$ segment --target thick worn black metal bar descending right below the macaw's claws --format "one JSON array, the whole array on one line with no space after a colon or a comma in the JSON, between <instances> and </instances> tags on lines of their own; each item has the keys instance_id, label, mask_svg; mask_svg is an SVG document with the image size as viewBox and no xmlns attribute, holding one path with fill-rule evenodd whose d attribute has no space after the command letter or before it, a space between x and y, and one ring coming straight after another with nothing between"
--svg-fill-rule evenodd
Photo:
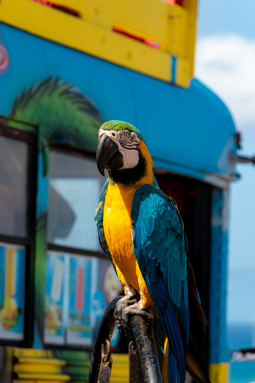
<instances>
[{"instance_id":1,"label":"thick worn black metal bar descending right below the macaw's claws","mask_svg":"<svg viewBox=\"0 0 255 383\"><path fill-rule=\"evenodd\" d=\"M138 347L145 382L162 383L159 362L148 324L138 315L131 317L129 324Z\"/></svg>"}]
</instances>

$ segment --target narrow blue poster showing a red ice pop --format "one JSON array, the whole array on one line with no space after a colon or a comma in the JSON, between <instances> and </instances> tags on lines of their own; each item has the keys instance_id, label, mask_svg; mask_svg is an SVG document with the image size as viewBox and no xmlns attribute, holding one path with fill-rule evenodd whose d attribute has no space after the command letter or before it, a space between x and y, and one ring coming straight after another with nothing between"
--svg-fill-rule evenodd
<instances>
[{"instance_id":1,"label":"narrow blue poster showing a red ice pop","mask_svg":"<svg viewBox=\"0 0 255 383\"><path fill-rule=\"evenodd\" d=\"M67 344L92 345L91 270L91 258L70 256Z\"/></svg>"}]
</instances>

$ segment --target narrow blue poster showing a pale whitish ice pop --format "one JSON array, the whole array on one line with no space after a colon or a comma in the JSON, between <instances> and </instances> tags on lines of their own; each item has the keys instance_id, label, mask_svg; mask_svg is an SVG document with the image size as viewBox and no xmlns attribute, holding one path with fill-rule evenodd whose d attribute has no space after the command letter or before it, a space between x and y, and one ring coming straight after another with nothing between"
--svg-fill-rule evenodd
<instances>
[{"instance_id":1,"label":"narrow blue poster showing a pale whitish ice pop","mask_svg":"<svg viewBox=\"0 0 255 383\"><path fill-rule=\"evenodd\" d=\"M65 257L57 252L47 252L45 283L44 342L65 343L63 285Z\"/></svg>"}]
</instances>

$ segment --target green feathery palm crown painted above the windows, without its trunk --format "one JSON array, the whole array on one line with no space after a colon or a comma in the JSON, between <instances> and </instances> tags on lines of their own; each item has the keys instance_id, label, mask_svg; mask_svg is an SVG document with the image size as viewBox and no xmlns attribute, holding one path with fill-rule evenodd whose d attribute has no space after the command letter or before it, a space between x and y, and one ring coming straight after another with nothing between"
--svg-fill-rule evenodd
<instances>
[{"instance_id":1,"label":"green feathery palm crown painted above the windows, without its trunk","mask_svg":"<svg viewBox=\"0 0 255 383\"><path fill-rule=\"evenodd\" d=\"M40 127L42 139L96 151L102 117L89 98L68 82L49 77L24 89L10 117Z\"/></svg>"}]
</instances>

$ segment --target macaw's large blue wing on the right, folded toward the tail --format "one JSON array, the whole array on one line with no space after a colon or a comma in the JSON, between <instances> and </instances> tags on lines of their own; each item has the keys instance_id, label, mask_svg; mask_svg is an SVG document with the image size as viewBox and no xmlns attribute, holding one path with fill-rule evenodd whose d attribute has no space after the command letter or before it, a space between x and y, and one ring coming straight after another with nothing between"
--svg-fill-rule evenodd
<instances>
[{"instance_id":1,"label":"macaw's large blue wing on the right, folded toward the tail","mask_svg":"<svg viewBox=\"0 0 255 383\"><path fill-rule=\"evenodd\" d=\"M174 200L153 185L136 190L131 218L135 257L172 346L169 368L178 368L184 382L189 316L188 247L182 220Z\"/></svg>"}]
</instances>

